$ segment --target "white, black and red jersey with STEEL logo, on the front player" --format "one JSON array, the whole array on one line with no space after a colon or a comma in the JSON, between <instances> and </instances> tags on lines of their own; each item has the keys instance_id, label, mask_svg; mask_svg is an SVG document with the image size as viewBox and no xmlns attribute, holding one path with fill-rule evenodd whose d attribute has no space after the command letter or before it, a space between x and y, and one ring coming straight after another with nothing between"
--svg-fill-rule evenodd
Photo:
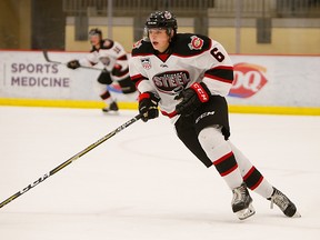
<instances>
[{"instance_id":1,"label":"white, black and red jersey with STEEL logo, on the front player","mask_svg":"<svg viewBox=\"0 0 320 240\"><path fill-rule=\"evenodd\" d=\"M194 82L204 82L212 94L226 97L233 81L233 66L224 48L212 39L178 33L168 53L157 53L150 42L140 40L129 60L131 79L139 92L160 97L162 114L177 116L177 93Z\"/></svg>"}]
</instances>

